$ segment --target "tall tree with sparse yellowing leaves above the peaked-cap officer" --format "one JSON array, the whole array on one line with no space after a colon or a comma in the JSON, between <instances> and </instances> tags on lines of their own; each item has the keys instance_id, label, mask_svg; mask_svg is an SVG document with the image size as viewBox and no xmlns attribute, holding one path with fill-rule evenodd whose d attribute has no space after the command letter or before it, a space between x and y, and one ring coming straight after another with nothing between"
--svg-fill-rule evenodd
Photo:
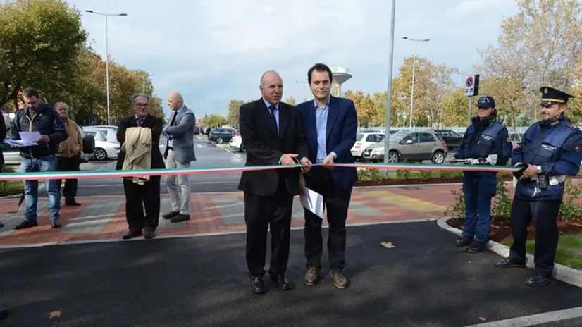
<instances>
[{"instance_id":1,"label":"tall tree with sparse yellowing leaves above the peaked-cap officer","mask_svg":"<svg viewBox=\"0 0 582 327\"><path fill-rule=\"evenodd\" d=\"M575 0L519 0L501 25L497 47L481 51L479 70L500 78L512 128L523 109L537 110L543 85L566 92L582 63L582 4ZM496 99L497 102L497 99ZM534 109L535 108L535 109Z\"/></svg>"}]
</instances>

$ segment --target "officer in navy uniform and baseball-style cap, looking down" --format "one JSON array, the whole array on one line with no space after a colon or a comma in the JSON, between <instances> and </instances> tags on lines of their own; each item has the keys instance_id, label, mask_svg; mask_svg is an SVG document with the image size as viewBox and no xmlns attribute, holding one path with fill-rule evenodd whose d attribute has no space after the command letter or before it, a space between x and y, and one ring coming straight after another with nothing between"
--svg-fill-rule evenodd
<instances>
[{"instance_id":1,"label":"officer in navy uniform and baseball-style cap, looking down","mask_svg":"<svg viewBox=\"0 0 582 327\"><path fill-rule=\"evenodd\" d=\"M512 155L512 143L507 128L495 121L497 109L493 97L481 97L478 101L477 117L467 128L463 143L453 163L464 159L469 165L505 166ZM465 171L463 192L465 196L465 222L462 237L456 241L469 253L486 249L491 229L491 199L497 190L497 172Z\"/></svg>"}]
</instances>

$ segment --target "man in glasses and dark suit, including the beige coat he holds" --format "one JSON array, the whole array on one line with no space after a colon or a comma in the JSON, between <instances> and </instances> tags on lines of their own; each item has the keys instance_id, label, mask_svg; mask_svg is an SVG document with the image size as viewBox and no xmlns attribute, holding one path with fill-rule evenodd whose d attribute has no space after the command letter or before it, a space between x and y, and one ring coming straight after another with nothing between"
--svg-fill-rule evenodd
<instances>
[{"instance_id":1,"label":"man in glasses and dark suit, including the beige coat he holds","mask_svg":"<svg viewBox=\"0 0 582 327\"><path fill-rule=\"evenodd\" d=\"M116 169L166 168L159 148L163 121L149 114L149 97L146 94L134 94L131 97L131 103L134 114L120 121L117 131L117 139L123 145L119 152ZM149 131L142 132L140 128L147 128ZM151 138L141 137L141 135L150 135ZM142 140L149 140L146 147L149 150L144 149L143 151L146 162L143 166L130 168L128 161L133 161L132 159L135 159L132 158L134 153L141 150L136 150L128 144L139 148L140 144L143 143ZM160 176L149 176L145 180L123 178L123 190L125 191L125 216L129 226L129 232L123 235L123 239L128 240L143 235L142 230L145 232L144 238L154 238L160 215Z\"/></svg>"}]
</instances>

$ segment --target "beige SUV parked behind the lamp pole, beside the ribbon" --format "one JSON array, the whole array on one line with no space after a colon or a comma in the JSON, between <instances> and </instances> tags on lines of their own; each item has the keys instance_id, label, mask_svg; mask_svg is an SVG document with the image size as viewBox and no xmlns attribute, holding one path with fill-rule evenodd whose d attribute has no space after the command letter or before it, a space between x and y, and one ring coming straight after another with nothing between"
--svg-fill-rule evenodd
<instances>
[{"instance_id":1,"label":"beige SUV parked behind the lamp pole, beside the ribbon","mask_svg":"<svg viewBox=\"0 0 582 327\"><path fill-rule=\"evenodd\" d=\"M447 143L432 130L401 130L390 135L388 163L399 161L431 160L441 164L448 154ZM364 159L372 162L384 160L384 143L372 144L364 150Z\"/></svg>"}]
</instances>

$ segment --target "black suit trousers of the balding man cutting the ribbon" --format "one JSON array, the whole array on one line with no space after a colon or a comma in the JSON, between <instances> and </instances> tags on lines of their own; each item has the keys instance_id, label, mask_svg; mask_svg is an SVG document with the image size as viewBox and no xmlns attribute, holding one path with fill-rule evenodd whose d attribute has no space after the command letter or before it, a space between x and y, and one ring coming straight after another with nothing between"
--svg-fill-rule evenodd
<instances>
[{"instance_id":1,"label":"black suit trousers of the balding man cutting the ribbon","mask_svg":"<svg viewBox=\"0 0 582 327\"><path fill-rule=\"evenodd\" d=\"M277 192L261 197L244 192L244 222L247 224L247 267L251 276L265 274L267 230L271 228L271 276L283 275L289 261L289 237L293 196L283 178Z\"/></svg>"}]
</instances>

